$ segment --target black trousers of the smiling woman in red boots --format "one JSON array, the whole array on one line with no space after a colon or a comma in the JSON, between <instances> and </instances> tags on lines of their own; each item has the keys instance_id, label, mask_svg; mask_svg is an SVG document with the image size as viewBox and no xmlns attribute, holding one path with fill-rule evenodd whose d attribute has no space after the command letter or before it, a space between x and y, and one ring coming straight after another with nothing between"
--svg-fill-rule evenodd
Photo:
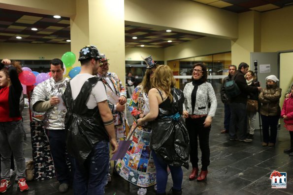
<instances>
[{"instance_id":1,"label":"black trousers of the smiling woman in red boots","mask_svg":"<svg viewBox=\"0 0 293 195\"><path fill-rule=\"evenodd\" d=\"M209 135L211 126L203 127L203 123L206 116L202 118L186 118L186 128L188 130L190 139L190 162L192 167L198 167L198 149L197 149L197 137L199 140L199 147L201 150L201 169L207 170L210 165L210 146Z\"/></svg>"}]
</instances>

